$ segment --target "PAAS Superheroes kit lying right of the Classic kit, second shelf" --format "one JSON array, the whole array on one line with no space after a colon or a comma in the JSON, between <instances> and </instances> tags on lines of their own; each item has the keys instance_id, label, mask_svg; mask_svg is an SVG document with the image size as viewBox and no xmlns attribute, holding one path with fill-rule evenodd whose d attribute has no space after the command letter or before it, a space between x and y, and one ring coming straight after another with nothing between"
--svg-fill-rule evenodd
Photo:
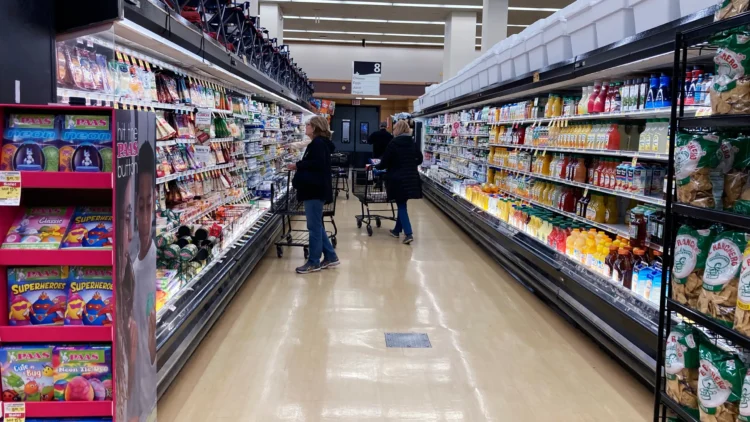
<instances>
[{"instance_id":1,"label":"PAAS Superheroes kit lying right of the Classic kit, second shelf","mask_svg":"<svg viewBox=\"0 0 750 422\"><path fill-rule=\"evenodd\" d=\"M108 207L78 207L60 248L112 249L112 209Z\"/></svg>"}]
</instances>

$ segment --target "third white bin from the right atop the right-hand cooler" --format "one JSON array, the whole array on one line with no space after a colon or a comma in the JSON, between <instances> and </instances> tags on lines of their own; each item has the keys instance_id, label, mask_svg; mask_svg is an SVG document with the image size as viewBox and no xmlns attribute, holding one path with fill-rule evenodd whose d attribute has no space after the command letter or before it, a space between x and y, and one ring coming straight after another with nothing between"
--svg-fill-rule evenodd
<instances>
[{"instance_id":1,"label":"third white bin from the right atop the right-hand cooler","mask_svg":"<svg viewBox=\"0 0 750 422\"><path fill-rule=\"evenodd\" d=\"M591 6L591 20L596 22L596 43L599 47L635 35L635 17L628 1L601 0Z\"/></svg>"}]
</instances>

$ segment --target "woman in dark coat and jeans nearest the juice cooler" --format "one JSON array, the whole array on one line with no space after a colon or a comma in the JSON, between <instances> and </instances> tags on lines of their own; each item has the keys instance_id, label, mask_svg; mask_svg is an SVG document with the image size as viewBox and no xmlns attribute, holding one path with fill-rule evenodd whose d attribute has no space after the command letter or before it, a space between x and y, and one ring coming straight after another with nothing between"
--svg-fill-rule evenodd
<instances>
[{"instance_id":1,"label":"woman in dark coat and jeans nearest the juice cooler","mask_svg":"<svg viewBox=\"0 0 750 422\"><path fill-rule=\"evenodd\" d=\"M396 227L391 230L391 236L399 237L404 231L403 243L408 245L414 241L406 210L406 201L422 198L422 180L419 178L417 167L422 164L422 153L414 143L409 123L401 120L393 127L393 140L383 154L378 170L387 170L385 188L388 200L398 206Z\"/></svg>"}]
</instances>

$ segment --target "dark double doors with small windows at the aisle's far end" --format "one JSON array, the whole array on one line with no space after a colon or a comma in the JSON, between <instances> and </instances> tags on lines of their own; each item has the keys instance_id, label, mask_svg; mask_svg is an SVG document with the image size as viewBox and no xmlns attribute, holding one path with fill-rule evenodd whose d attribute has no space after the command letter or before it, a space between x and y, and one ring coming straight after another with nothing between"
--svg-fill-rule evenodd
<instances>
[{"instance_id":1,"label":"dark double doors with small windows at the aisle's far end","mask_svg":"<svg viewBox=\"0 0 750 422\"><path fill-rule=\"evenodd\" d=\"M372 157L372 145L367 143L367 138L380 129L379 116L380 107L336 105L331 119L331 140L336 151L349 154L355 167L364 167Z\"/></svg>"}]
</instances>

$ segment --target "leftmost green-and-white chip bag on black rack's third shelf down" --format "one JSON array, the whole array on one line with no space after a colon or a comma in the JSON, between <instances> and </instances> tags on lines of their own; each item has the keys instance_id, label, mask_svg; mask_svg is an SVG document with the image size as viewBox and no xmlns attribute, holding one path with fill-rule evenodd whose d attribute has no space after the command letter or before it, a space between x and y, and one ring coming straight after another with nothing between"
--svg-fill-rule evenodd
<instances>
[{"instance_id":1,"label":"leftmost green-and-white chip bag on black rack's third shelf down","mask_svg":"<svg viewBox=\"0 0 750 422\"><path fill-rule=\"evenodd\" d=\"M672 264L672 298L698 309L706 257L713 243L712 229L696 230L685 224L677 230Z\"/></svg>"}]
</instances>

